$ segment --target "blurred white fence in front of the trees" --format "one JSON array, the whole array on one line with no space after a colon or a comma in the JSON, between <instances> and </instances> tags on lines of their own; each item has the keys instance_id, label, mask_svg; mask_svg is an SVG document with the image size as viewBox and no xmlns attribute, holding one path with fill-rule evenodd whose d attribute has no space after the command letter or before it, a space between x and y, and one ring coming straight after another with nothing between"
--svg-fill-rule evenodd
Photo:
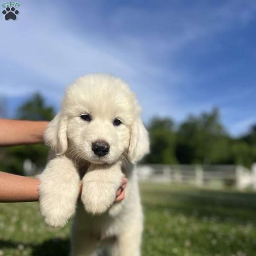
<instances>
[{"instance_id":1,"label":"blurred white fence in front of the trees","mask_svg":"<svg viewBox=\"0 0 256 256\"><path fill-rule=\"evenodd\" d=\"M140 180L190 183L196 186L236 186L256 190L256 164L252 170L234 165L138 165Z\"/></svg>"}]
</instances>

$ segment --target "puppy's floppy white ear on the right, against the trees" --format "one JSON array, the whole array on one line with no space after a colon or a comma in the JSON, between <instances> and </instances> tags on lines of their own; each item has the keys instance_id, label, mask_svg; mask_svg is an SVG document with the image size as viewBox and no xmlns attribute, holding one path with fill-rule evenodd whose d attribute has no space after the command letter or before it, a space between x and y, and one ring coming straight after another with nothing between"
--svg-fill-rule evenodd
<instances>
[{"instance_id":1,"label":"puppy's floppy white ear on the right, against the trees","mask_svg":"<svg viewBox=\"0 0 256 256\"><path fill-rule=\"evenodd\" d=\"M131 163L137 163L145 154L149 153L148 131L143 125L140 117L137 117L131 127L130 145L128 148L128 156Z\"/></svg>"}]
</instances>

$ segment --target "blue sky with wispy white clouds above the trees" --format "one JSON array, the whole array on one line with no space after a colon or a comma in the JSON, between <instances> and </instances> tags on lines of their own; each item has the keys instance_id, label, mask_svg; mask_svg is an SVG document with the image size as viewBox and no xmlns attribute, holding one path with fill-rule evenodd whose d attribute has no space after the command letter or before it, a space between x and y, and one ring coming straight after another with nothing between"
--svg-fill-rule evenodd
<instances>
[{"instance_id":1,"label":"blue sky with wispy white clouds above the trees","mask_svg":"<svg viewBox=\"0 0 256 256\"><path fill-rule=\"evenodd\" d=\"M58 110L70 82L103 72L130 84L145 122L215 106L235 136L256 122L255 1L19 3L17 20L0 19L10 116L36 91Z\"/></svg>"}]
</instances>

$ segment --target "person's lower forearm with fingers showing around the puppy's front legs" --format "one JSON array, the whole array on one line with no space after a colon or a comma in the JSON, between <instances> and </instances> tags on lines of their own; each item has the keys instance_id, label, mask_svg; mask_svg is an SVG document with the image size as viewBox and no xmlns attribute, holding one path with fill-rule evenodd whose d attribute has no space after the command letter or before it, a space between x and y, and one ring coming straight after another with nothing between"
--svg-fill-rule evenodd
<instances>
[{"instance_id":1,"label":"person's lower forearm with fingers showing around the puppy's front legs","mask_svg":"<svg viewBox=\"0 0 256 256\"><path fill-rule=\"evenodd\" d=\"M0 203L38 201L39 183L40 181L36 178L0 172ZM126 184L127 179L124 178L122 187L116 192L116 202L125 198ZM81 190L81 188L77 189Z\"/></svg>"}]
</instances>

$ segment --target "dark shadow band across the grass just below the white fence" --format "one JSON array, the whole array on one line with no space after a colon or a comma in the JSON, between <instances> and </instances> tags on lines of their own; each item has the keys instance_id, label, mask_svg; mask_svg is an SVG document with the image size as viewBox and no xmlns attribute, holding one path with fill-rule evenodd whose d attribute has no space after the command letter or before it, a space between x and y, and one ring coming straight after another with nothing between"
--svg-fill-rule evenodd
<instances>
[{"instance_id":1,"label":"dark shadow band across the grass just below the white fence","mask_svg":"<svg viewBox=\"0 0 256 256\"><path fill-rule=\"evenodd\" d=\"M256 222L256 194L204 189L153 190L142 187L145 209L169 210L196 218L214 217L238 224Z\"/></svg>"}]
</instances>

